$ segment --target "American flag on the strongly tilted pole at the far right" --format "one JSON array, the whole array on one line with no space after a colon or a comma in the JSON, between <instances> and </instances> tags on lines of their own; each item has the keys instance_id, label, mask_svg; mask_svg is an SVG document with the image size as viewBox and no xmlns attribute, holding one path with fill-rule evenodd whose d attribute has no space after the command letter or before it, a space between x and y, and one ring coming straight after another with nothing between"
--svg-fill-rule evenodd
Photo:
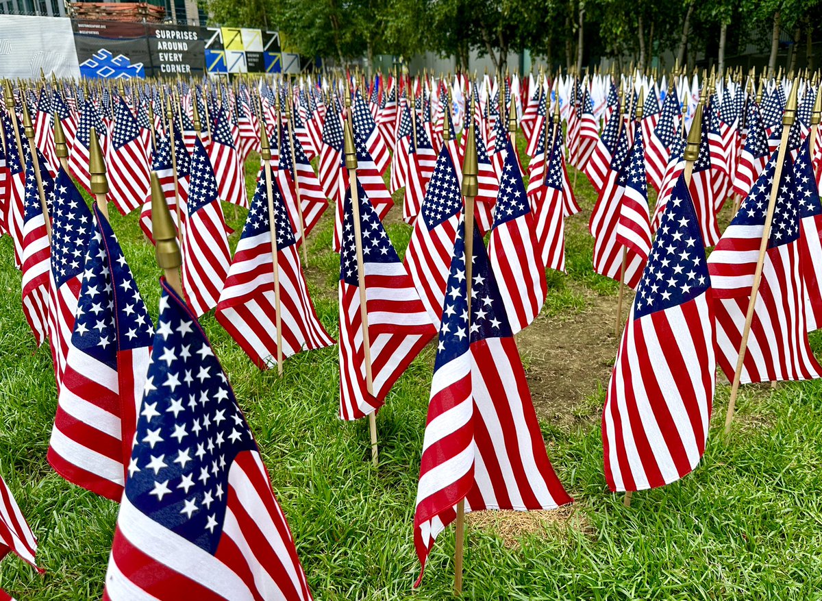
<instances>
[{"instance_id":1,"label":"American flag on the strongly tilted pole at the far right","mask_svg":"<svg viewBox=\"0 0 822 601\"><path fill-rule=\"evenodd\" d=\"M717 298L718 363L729 380L741 349L777 160L774 153L708 261ZM800 195L792 172L792 160L786 156L741 372L743 384L822 377L808 343L810 307L805 305L802 279L803 271L815 266L803 266L801 261Z\"/></svg>"}]
</instances>

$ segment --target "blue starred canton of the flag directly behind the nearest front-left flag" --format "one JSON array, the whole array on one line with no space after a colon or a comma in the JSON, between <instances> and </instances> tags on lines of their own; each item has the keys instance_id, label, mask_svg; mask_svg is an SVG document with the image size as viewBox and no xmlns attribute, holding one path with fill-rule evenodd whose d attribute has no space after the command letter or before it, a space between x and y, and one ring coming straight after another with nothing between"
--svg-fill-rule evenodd
<instances>
[{"instance_id":1,"label":"blue starred canton of the flag directly behind the nearest front-left flag","mask_svg":"<svg viewBox=\"0 0 822 601\"><path fill-rule=\"evenodd\" d=\"M96 206L95 218L72 344L117 369L118 350L149 346L154 329L120 244Z\"/></svg>"}]
</instances>

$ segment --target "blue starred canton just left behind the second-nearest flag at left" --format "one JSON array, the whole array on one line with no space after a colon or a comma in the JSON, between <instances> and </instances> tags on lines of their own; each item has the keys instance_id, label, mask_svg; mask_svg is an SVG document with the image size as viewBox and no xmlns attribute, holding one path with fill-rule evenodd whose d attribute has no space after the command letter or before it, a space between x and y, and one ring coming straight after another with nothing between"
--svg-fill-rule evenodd
<instances>
[{"instance_id":1,"label":"blue starred canton just left behind the second-nearest flag at left","mask_svg":"<svg viewBox=\"0 0 822 601\"><path fill-rule=\"evenodd\" d=\"M58 287L83 273L94 227L91 219L91 211L72 178L60 169L54 181L51 241L51 268Z\"/></svg>"}]
</instances>

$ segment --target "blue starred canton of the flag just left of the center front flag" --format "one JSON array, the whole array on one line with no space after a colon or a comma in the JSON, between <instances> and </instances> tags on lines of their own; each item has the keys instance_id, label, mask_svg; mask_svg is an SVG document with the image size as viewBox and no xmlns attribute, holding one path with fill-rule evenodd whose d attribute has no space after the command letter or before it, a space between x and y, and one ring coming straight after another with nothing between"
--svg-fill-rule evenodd
<instances>
[{"instance_id":1,"label":"blue starred canton of the flag just left of the center front flag","mask_svg":"<svg viewBox=\"0 0 822 601\"><path fill-rule=\"evenodd\" d=\"M362 184L357 182L360 208L360 232L363 236L363 261L367 263L399 263L399 256L391 245L386 229L368 200ZM354 236L354 212L351 188L345 192L343 207L343 242L339 253L339 279L346 284L359 285L357 270L357 241Z\"/></svg>"}]
</instances>

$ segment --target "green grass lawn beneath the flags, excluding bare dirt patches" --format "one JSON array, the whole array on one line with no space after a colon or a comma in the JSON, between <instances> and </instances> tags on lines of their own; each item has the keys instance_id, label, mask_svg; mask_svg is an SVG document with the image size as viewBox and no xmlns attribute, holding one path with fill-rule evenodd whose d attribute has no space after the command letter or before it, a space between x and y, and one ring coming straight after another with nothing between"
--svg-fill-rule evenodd
<instances>
[{"instance_id":1,"label":"green grass lawn beneath the flags, excluding bare dirt patches","mask_svg":"<svg viewBox=\"0 0 822 601\"><path fill-rule=\"evenodd\" d=\"M586 296L617 291L591 269L587 215L595 198L584 177L578 181L584 212L569 220L568 275L548 277L549 315L581 311ZM230 207L226 213L238 230L235 244L244 211L236 220ZM307 277L317 312L335 334L339 259L330 252L330 217L331 211L309 239ZM113 215L112 222L156 316L153 247L142 239L136 215ZM388 231L402 255L409 227L394 219ZM0 586L17 599L99 599L117 506L65 482L46 463L56 406L51 361L47 347L35 350L22 317L20 274L7 237L0 257L0 474L39 538L39 565L46 570L41 576L7 557ZM337 349L290 358L277 377L254 368L211 315L201 322L256 434L316 599L449 599L452 528L438 539L422 588L411 589L432 349L399 379L379 415L381 465L374 469L366 421L336 417ZM811 340L822 349L822 335ZM822 599L820 383L744 386L737 423L724 438L727 388L718 386L700 467L678 483L636 493L630 509L607 492L597 420L574 428L543 421L556 472L586 527L524 535L519 548L469 529L465 597ZM601 407L603 397L600 390L569 411L584 414L581 407Z\"/></svg>"}]
</instances>

